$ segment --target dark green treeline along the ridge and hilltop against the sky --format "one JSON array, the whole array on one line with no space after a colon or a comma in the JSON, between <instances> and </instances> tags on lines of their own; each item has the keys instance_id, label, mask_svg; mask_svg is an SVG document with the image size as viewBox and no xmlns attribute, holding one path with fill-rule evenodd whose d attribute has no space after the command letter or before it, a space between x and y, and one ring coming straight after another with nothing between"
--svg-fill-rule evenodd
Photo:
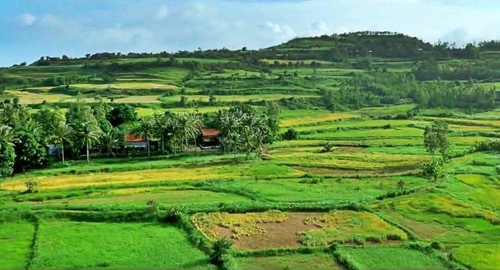
<instances>
[{"instance_id":1,"label":"dark green treeline along the ridge and hilltop against the sky","mask_svg":"<svg viewBox=\"0 0 500 270\"><path fill-rule=\"evenodd\" d=\"M290 40L285 44L259 51L247 51L246 47L238 50L210 49L195 51L178 51L168 53L94 53L85 58L68 58L42 56L34 65L60 65L67 62L85 62L88 60L115 60L137 58L206 58L242 60L249 64L258 60L303 60L317 59L331 62L342 62L348 58L373 56L379 58L465 58L476 59L480 51L499 51L500 42L480 42L457 47L449 42L430 44L401 33L363 31L354 33L322 35L320 37L303 37ZM286 49L286 50L282 50Z\"/></svg>"}]
</instances>

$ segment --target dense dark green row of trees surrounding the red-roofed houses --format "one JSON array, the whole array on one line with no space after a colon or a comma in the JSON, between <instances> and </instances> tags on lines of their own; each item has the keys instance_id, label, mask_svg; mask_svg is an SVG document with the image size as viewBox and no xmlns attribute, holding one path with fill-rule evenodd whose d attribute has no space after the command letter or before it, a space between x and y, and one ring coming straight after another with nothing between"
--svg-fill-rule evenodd
<instances>
[{"instance_id":1,"label":"dense dark green row of trees surrounding the red-roofed houses","mask_svg":"<svg viewBox=\"0 0 500 270\"><path fill-rule=\"evenodd\" d=\"M138 117L135 108L113 106L103 101L77 101L63 113L58 108L42 107L30 112L19 99L0 103L0 178L49 164L49 144L56 146L63 164L65 158L117 156L131 153L126 137L131 135L147 142L157 142L162 153L188 151L197 146L203 126L219 128L223 133L223 150L231 153L260 155L265 144L277 140L280 109L268 103L264 109L238 106L219 110L217 114L174 114ZM158 149L157 149L158 151Z\"/></svg>"}]
</instances>

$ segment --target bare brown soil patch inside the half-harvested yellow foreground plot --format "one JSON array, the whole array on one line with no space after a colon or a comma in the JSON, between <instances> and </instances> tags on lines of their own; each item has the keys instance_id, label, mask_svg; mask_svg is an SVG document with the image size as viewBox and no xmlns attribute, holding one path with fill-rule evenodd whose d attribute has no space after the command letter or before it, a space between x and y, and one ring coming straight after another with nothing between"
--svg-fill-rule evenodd
<instances>
[{"instance_id":1,"label":"bare brown soil patch inside the half-harvested yellow foreground plot","mask_svg":"<svg viewBox=\"0 0 500 270\"><path fill-rule=\"evenodd\" d=\"M263 235L242 236L233 239L235 248L263 249L303 246L299 242L301 235L299 232L318 228L315 225L307 225L304 219L316 217L324 213L290 213L288 219L282 223L259 223L258 226L264 228ZM220 237L231 238L233 232L228 228L217 227L217 234Z\"/></svg>"}]
</instances>

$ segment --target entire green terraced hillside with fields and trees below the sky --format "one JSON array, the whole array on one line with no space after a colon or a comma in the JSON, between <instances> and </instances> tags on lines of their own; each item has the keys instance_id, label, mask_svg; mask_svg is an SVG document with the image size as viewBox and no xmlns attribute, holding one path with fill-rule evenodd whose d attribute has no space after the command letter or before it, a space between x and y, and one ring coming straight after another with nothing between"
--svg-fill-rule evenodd
<instances>
[{"instance_id":1,"label":"entire green terraced hillside with fields and trees below the sky","mask_svg":"<svg viewBox=\"0 0 500 270\"><path fill-rule=\"evenodd\" d=\"M2 68L0 268L494 269L498 45L360 32Z\"/></svg>"}]
</instances>

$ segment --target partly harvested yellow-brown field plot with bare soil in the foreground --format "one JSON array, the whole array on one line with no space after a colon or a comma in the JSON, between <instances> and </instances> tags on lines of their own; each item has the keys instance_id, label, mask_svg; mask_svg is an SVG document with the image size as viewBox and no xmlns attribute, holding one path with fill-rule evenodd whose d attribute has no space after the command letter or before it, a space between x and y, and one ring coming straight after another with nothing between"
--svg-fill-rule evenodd
<instances>
[{"instance_id":1,"label":"partly harvested yellow-brown field plot with bare soil in the foreground","mask_svg":"<svg viewBox=\"0 0 500 270\"><path fill-rule=\"evenodd\" d=\"M408 238L399 228L367 212L199 213L192 217L192 222L211 241L218 237L232 237L238 248L325 246L334 242L378 243Z\"/></svg>"}]
</instances>

